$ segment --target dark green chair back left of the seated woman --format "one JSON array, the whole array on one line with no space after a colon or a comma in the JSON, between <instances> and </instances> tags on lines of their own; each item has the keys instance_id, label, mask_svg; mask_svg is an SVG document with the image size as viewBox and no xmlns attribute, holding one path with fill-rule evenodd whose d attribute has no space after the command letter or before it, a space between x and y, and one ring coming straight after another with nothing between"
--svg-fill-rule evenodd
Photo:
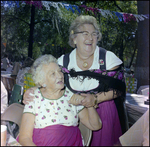
<instances>
[{"instance_id":1,"label":"dark green chair back left of the seated woman","mask_svg":"<svg viewBox=\"0 0 150 147\"><path fill-rule=\"evenodd\" d=\"M23 87L15 84L13 87L13 90L11 92L11 96L9 98L9 105L11 105L12 103L22 103L22 99L23 99Z\"/></svg>"}]
</instances>

